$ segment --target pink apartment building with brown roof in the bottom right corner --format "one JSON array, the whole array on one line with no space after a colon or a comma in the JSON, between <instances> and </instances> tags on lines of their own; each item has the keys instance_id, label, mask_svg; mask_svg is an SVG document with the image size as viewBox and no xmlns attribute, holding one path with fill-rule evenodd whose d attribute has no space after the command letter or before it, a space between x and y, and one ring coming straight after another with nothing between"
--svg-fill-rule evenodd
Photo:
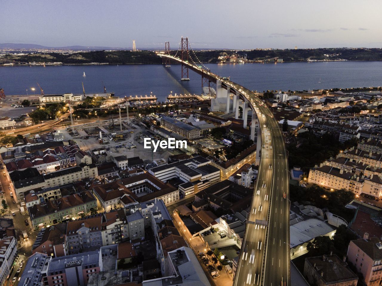
<instances>
[{"instance_id":1,"label":"pink apartment building with brown roof in the bottom right corner","mask_svg":"<svg viewBox=\"0 0 382 286\"><path fill-rule=\"evenodd\" d=\"M348 261L354 265L357 272L362 273L367 286L382 283L382 241L380 238L364 238L352 240L349 243Z\"/></svg>"}]
</instances>

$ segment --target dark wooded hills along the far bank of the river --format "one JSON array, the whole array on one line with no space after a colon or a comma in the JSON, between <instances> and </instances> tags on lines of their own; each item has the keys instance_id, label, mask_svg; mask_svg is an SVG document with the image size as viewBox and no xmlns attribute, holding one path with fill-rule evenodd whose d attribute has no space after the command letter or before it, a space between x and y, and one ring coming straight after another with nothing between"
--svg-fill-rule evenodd
<instances>
[{"instance_id":1,"label":"dark wooded hills along the far bank of the river","mask_svg":"<svg viewBox=\"0 0 382 286\"><path fill-rule=\"evenodd\" d=\"M1 45L4 44L0 44ZM6 44L5 44L6 45ZM16 45L16 44L15 44ZM18 45L18 44L17 44ZM27 44L24 44L27 45ZM39 45L32 45L43 47ZM31 47L31 46L29 46ZM109 64L154 64L162 63L162 59L151 50L131 51L131 50L113 50L110 47L86 47L89 51L84 51L82 46L66 47L68 49L80 48L83 51L77 53L59 53L36 52L26 50L24 55L8 54L0 57L0 64L28 64L60 62L63 64L85 64L85 63L109 63ZM91 48L102 48L102 50L90 50ZM105 51L111 50L111 51ZM171 51L175 55L176 51ZM195 50L189 55L189 61L199 60L203 63L221 62L220 56L237 55L241 58L244 56L249 60L262 62L272 58L282 58L284 62L303 62L303 61L382 61L382 49L380 48L318 48L318 49L285 49L285 50ZM197 63L198 64L198 63Z\"/></svg>"}]
</instances>

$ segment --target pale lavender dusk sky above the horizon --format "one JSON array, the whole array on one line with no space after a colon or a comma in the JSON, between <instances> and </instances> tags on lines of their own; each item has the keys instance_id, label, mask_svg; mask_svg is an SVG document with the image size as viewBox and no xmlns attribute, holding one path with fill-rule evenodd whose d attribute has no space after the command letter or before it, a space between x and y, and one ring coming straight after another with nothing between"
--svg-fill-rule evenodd
<instances>
[{"instance_id":1,"label":"pale lavender dusk sky above the horizon","mask_svg":"<svg viewBox=\"0 0 382 286\"><path fill-rule=\"evenodd\" d=\"M0 43L139 48L382 47L381 0L0 0Z\"/></svg>"}]
</instances>

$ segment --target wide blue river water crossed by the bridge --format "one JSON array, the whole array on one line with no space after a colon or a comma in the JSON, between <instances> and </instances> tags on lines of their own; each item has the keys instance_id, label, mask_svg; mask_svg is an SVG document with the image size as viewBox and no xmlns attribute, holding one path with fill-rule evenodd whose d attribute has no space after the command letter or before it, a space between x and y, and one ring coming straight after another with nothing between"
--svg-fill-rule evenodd
<instances>
[{"instance_id":1,"label":"wide blue river water crossed by the bridge","mask_svg":"<svg viewBox=\"0 0 382 286\"><path fill-rule=\"evenodd\" d=\"M245 87L263 90L312 90L324 88L370 87L382 85L382 61L344 61L277 64L206 64L219 76ZM83 72L86 77L83 77ZM190 81L180 81L181 67L173 64L121 66L6 66L0 67L0 87L6 95L65 92L102 93L104 85L115 96L150 95L160 101L170 93L202 92L201 77L189 71ZM32 91L32 87L35 88Z\"/></svg>"}]
</instances>

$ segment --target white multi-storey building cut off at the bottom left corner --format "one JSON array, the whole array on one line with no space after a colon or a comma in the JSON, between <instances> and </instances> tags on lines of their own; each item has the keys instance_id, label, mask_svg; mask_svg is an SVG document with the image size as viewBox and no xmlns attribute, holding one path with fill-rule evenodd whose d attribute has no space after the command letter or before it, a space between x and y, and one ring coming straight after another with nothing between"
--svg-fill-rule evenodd
<instances>
[{"instance_id":1,"label":"white multi-storey building cut off at the bottom left corner","mask_svg":"<svg viewBox=\"0 0 382 286\"><path fill-rule=\"evenodd\" d=\"M0 240L0 285L4 285L7 280L16 255L17 245L13 236Z\"/></svg>"}]
</instances>

